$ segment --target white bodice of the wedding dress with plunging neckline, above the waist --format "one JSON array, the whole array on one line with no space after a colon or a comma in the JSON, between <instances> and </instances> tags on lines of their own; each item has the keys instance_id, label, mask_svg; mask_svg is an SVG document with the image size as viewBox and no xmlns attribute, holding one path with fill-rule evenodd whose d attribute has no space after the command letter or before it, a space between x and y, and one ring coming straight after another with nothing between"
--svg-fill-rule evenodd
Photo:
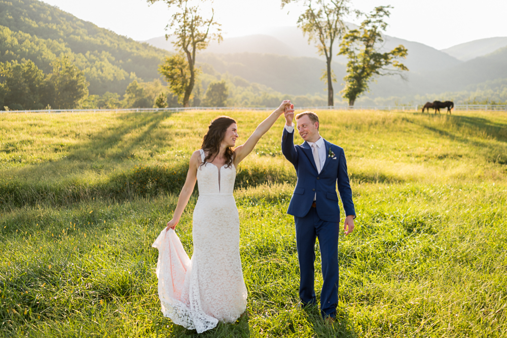
<instances>
[{"instance_id":1,"label":"white bodice of the wedding dress with plunging neckline, above the waist","mask_svg":"<svg viewBox=\"0 0 507 338\"><path fill-rule=\"evenodd\" d=\"M201 161L204 162L204 151L201 153ZM223 165L218 168L210 162L200 165L197 169L197 184L199 196L207 194L232 194L234 190L234 181L236 180L236 168L234 164L230 167Z\"/></svg>"}]
</instances>

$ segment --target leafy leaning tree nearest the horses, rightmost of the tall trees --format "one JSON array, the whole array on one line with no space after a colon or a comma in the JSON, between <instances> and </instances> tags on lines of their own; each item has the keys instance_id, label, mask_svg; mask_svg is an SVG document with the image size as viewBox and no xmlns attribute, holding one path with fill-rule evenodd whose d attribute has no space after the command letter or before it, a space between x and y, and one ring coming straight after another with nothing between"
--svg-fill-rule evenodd
<instances>
[{"instance_id":1,"label":"leafy leaning tree nearest the horses, rightmost of the tall trees","mask_svg":"<svg viewBox=\"0 0 507 338\"><path fill-rule=\"evenodd\" d=\"M350 30L343 37L340 44L338 55L346 55L348 58L347 75L343 78L345 88L342 93L343 97L349 100L349 106L353 106L355 99L368 90L368 82L374 76L402 75L402 71L408 71L403 63L395 60L407 56L407 49L403 45L390 52L381 52L382 46L379 44L384 41L382 31L387 28L384 17L389 17L389 8L392 7L376 7L358 29Z\"/></svg>"}]
</instances>

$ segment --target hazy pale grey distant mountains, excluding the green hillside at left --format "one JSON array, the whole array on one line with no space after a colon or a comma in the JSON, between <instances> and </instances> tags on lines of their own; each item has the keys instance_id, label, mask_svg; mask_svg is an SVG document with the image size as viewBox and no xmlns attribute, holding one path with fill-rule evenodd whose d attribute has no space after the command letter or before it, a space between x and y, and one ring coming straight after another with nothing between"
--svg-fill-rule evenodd
<instances>
[{"instance_id":1,"label":"hazy pale grey distant mountains, excluding the green hillside at left","mask_svg":"<svg viewBox=\"0 0 507 338\"><path fill-rule=\"evenodd\" d=\"M410 72L405 79L378 78L365 95L370 98L476 91L479 87L489 88L491 81L507 78L507 38L476 40L446 50L390 36L384 38L383 50L398 45L408 49L408 56L402 61ZM174 52L172 43L164 37L146 42ZM338 48L337 44L335 50ZM342 88L340 79L345 76L347 60L343 56L335 56L333 60L333 70L339 79L338 90L335 90L338 92ZM199 54L198 61L212 65L219 73L228 72L282 93L315 94L322 93L325 88L320 81L324 59L317 55L316 47L308 44L297 27L226 38L220 44L212 42Z\"/></svg>"}]
</instances>

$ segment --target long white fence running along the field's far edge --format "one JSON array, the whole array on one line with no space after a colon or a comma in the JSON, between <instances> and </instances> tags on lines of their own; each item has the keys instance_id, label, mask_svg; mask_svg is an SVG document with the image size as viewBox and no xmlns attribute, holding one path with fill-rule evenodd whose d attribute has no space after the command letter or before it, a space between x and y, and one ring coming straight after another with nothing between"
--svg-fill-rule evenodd
<instances>
[{"instance_id":1,"label":"long white fence running along the field's far edge","mask_svg":"<svg viewBox=\"0 0 507 338\"><path fill-rule=\"evenodd\" d=\"M407 106L322 106L322 107L298 107L298 109L313 110L386 110L386 111L419 111L423 105ZM12 113L98 113L98 112L180 112L187 110L274 110L271 108L253 107L189 107L189 108L129 108L129 109L44 109L44 110L14 110ZM507 112L507 105L455 105L454 110L481 110L481 111L502 111ZM441 108L446 112L447 108ZM0 111L7 113L7 111Z\"/></svg>"}]
</instances>

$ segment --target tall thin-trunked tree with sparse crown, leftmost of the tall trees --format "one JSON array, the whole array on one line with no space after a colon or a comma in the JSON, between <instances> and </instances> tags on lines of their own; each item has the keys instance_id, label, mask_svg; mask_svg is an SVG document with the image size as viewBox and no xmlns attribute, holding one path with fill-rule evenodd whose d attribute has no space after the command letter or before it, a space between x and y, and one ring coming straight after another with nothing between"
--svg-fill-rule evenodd
<instances>
[{"instance_id":1,"label":"tall thin-trunked tree with sparse crown, leftmost of the tall trees","mask_svg":"<svg viewBox=\"0 0 507 338\"><path fill-rule=\"evenodd\" d=\"M200 15L198 5L192 6L191 0L147 0L149 3L164 1L169 8L176 7L176 12L171 17L171 22L166 26L170 33L166 34L166 39L174 37L173 45L176 50L184 54L187 58L188 71L190 73L188 82L183 83L183 106L189 107L190 95L194 89L196 80L195 56L198 50L206 49L211 40L222 41L220 24L215 22L214 11L211 9L211 18L204 19ZM205 2L200 0L199 2ZM215 32L210 29L214 27ZM172 90L172 87L171 87Z\"/></svg>"}]
</instances>

